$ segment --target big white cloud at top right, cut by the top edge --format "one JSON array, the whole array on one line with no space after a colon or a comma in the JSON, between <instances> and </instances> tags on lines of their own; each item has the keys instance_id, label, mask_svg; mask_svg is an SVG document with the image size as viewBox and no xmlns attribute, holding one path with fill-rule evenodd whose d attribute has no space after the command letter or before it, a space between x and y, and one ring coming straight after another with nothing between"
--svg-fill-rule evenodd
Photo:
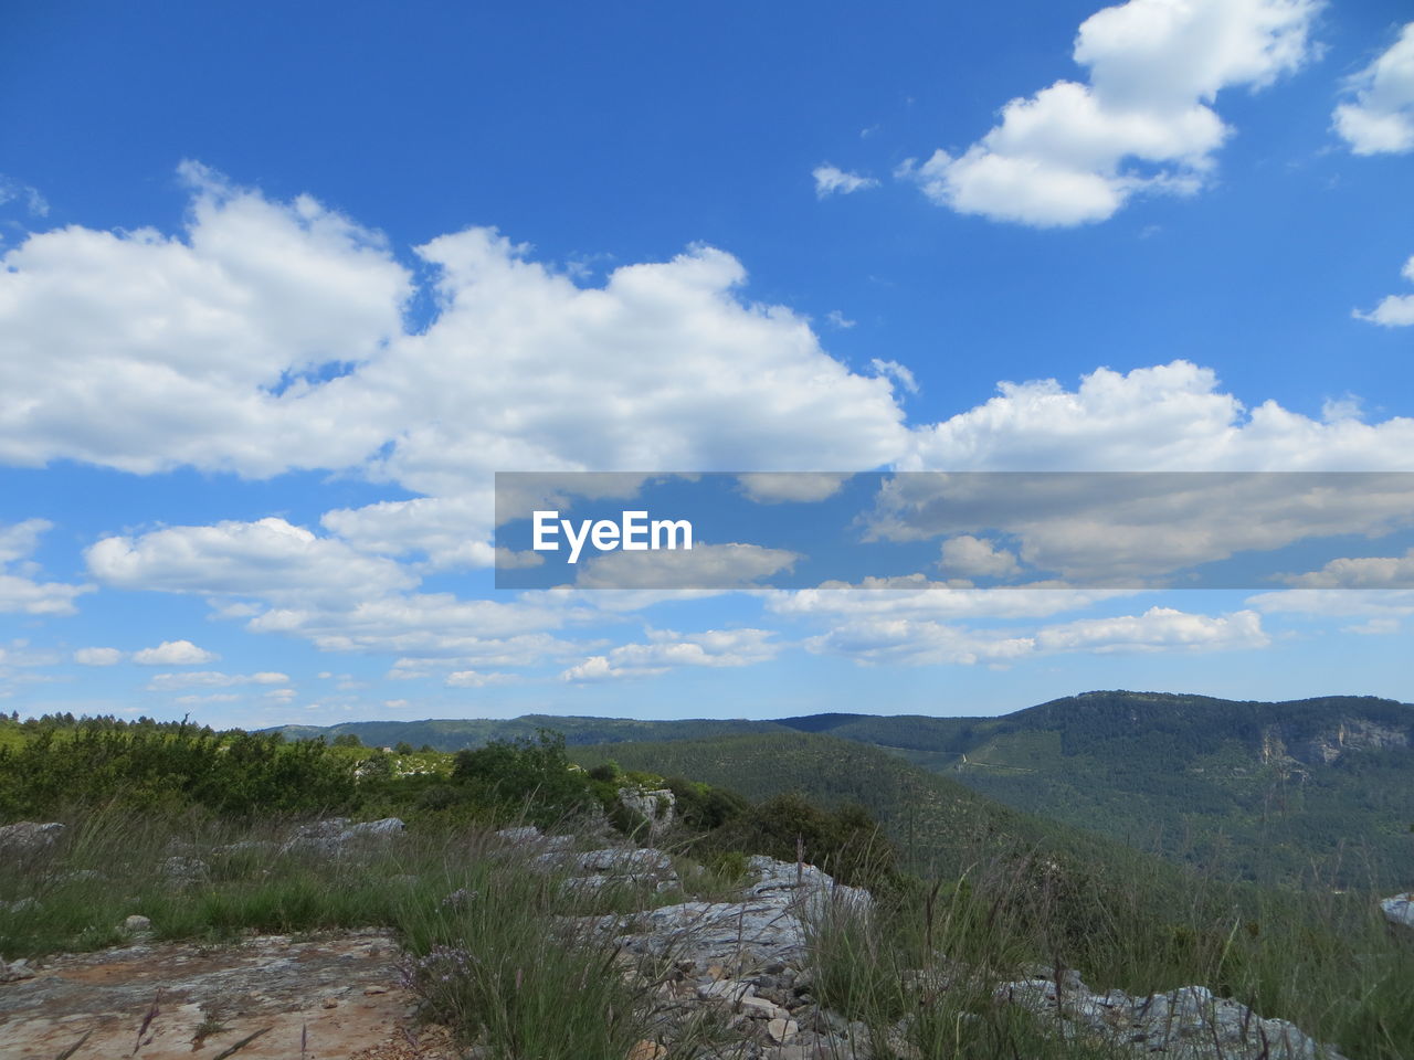
<instances>
[{"instance_id":1,"label":"big white cloud at top right, cut by the top edge","mask_svg":"<svg viewBox=\"0 0 1414 1060\"><path fill-rule=\"evenodd\" d=\"M960 213L1036 228L1104 220L1145 191L1192 194L1230 130L1209 106L1298 69L1318 0L1130 0L1090 16L1058 81L1001 109L960 155L899 175Z\"/></svg>"}]
</instances>

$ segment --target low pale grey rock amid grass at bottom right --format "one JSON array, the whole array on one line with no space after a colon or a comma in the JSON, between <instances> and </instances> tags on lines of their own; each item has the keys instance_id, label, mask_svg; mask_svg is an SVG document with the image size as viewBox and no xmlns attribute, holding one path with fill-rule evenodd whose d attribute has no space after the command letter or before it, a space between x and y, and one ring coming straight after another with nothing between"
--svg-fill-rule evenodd
<instances>
[{"instance_id":1,"label":"low pale grey rock amid grass at bottom right","mask_svg":"<svg viewBox=\"0 0 1414 1060\"><path fill-rule=\"evenodd\" d=\"M1169 1060L1345 1060L1284 1019L1263 1019L1206 987L1131 998L1093 994L1079 977L1031 978L997 988L994 998L1056 1020L1062 1037L1092 1037L1135 1054Z\"/></svg>"}]
</instances>

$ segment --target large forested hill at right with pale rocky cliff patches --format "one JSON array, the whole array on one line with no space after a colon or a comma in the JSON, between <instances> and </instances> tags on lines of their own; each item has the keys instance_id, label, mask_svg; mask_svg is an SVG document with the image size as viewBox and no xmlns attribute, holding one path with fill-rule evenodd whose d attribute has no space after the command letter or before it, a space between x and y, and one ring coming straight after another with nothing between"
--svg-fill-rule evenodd
<instances>
[{"instance_id":1,"label":"large forested hill at right with pale rocky cliff patches","mask_svg":"<svg viewBox=\"0 0 1414 1060\"><path fill-rule=\"evenodd\" d=\"M1414 707L1391 700L1103 691L1001 718L781 724L872 743L1017 808L1237 875L1414 878Z\"/></svg>"}]
</instances>

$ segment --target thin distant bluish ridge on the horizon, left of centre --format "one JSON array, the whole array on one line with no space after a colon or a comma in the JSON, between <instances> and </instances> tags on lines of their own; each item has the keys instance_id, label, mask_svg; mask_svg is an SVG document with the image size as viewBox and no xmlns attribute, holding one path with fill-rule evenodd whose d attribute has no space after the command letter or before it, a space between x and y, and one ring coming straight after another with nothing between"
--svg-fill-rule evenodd
<instances>
[{"instance_id":1,"label":"thin distant bluish ridge on the horizon, left of centre","mask_svg":"<svg viewBox=\"0 0 1414 1060\"><path fill-rule=\"evenodd\" d=\"M279 732L286 739L332 741L351 734L365 746L392 748L409 743L414 748L454 752L479 748L491 741L534 738L537 729L554 729L566 743L619 743L622 741L700 739L731 734L783 732L772 721L715 721L690 718L684 721L635 721L631 718L568 718L550 714L526 714L519 718L445 718L428 721L351 721L342 725L283 725Z\"/></svg>"}]
</instances>

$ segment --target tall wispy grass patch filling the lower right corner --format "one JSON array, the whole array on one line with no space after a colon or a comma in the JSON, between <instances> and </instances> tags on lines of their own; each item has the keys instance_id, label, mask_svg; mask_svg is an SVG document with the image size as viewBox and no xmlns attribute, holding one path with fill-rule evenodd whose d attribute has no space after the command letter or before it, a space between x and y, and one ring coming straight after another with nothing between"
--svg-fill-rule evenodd
<instances>
[{"instance_id":1,"label":"tall wispy grass patch filling the lower right corner","mask_svg":"<svg viewBox=\"0 0 1414 1060\"><path fill-rule=\"evenodd\" d=\"M1104 879L1018 849L973 862L813 937L822 1002L875 1033L908 1025L923 1057L1090 1057L1107 1046L1051 1040L993 1002L997 982L1077 971L1094 992L1133 996L1206 985L1295 1023L1359 1060L1414 1056L1414 937L1372 895L1274 892L1168 873ZM946 985L946 988L942 988Z\"/></svg>"}]
</instances>

